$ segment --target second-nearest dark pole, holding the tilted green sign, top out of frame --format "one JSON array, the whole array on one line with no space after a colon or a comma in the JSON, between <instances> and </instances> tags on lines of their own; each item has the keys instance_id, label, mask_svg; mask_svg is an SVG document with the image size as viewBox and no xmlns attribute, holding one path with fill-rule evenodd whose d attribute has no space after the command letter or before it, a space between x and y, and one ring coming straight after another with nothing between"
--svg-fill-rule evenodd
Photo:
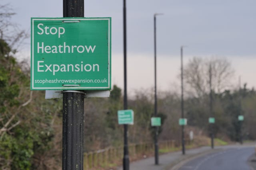
<instances>
[{"instance_id":1,"label":"second-nearest dark pole, holding the tilted green sign, top out of frame","mask_svg":"<svg viewBox=\"0 0 256 170\"><path fill-rule=\"evenodd\" d=\"M127 72L126 72L126 0L123 4L123 20L124 20L124 110L127 109ZM128 150L128 125L124 124L124 158L123 170L129 170L129 150Z\"/></svg>"}]
</instances>

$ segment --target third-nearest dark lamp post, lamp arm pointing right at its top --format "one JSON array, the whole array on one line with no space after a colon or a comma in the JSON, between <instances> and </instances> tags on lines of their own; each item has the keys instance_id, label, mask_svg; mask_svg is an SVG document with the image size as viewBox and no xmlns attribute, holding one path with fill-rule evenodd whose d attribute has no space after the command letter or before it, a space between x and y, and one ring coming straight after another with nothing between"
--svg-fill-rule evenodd
<instances>
[{"instance_id":1,"label":"third-nearest dark lamp post, lamp arm pointing right at its top","mask_svg":"<svg viewBox=\"0 0 256 170\"><path fill-rule=\"evenodd\" d=\"M154 14L154 63L155 63L155 107L154 107L154 116L156 117L157 115L157 96L156 96L156 16L158 15L163 15L163 14ZM158 159L158 141L157 141L157 136L158 136L158 127L155 127L155 164L159 164L159 159Z\"/></svg>"}]
</instances>

